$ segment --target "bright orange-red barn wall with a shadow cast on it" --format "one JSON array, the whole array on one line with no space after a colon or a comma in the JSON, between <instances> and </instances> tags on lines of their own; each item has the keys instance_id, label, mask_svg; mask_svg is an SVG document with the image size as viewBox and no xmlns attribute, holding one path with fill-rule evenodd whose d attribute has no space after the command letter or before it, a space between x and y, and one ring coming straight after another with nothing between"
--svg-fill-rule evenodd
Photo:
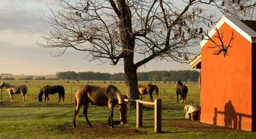
<instances>
[{"instance_id":1,"label":"bright orange-red barn wall with a shadow cast on it","mask_svg":"<svg viewBox=\"0 0 256 139\"><path fill-rule=\"evenodd\" d=\"M229 43L232 30L227 23L219 28L220 34L224 32L224 45ZM214 55L218 48L208 48L214 46L210 41L201 49L200 121L251 131L252 43L235 30L233 37L226 57L223 53Z\"/></svg>"}]
</instances>

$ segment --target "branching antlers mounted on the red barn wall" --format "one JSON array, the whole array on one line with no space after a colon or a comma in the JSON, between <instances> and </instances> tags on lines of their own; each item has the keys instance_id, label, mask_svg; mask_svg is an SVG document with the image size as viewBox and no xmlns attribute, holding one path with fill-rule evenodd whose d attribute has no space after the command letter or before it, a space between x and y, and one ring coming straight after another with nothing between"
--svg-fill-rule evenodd
<instances>
[{"instance_id":1,"label":"branching antlers mounted on the red barn wall","mask_svg":"<svg viewBox=\"0 0 256 139\"><path fill-rule=\"evenodd\" d=\"M223 52L224 57L225 57L225 56L228 56L228 48L231 47L231 46L230 46L230 43L231 43L232 39L234 39L234 38L233 38L234 30L232 30L232 35L231 35L231 38L230 38L230 41L229 41L228 45L225 46L225 45L224 45L224 42L223 42L223 37L224 37L223 34L224 34L224 32L221 33L221 35L220 35L219 30L218 30L217 28L214 28L214 29L215 29L215 31L217 32L217 35L218 35L218 36L213 36L213 37L219 38L220 44L217 44L217 43L209 36L209 34L208 34L208 32L207 32L207 33L205 33L205 36L208 37L208 38L206 38L206 40L209 40L209 41L213 42L214 45L215 45L215 46L213 46L213 47L209 47L209 46L208 46L208 48L218 48L218 50L217 50L217 51L214 51L213 54L220 54L221 52Z\"/></svg>"}]
</instances>

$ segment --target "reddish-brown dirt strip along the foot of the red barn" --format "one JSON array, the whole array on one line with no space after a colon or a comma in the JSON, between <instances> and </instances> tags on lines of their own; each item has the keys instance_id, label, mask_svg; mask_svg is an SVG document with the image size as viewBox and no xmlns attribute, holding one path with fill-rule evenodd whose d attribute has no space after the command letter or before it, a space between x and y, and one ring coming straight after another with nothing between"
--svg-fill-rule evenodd
<instances>
[{"instance_id":1,"label":"reddish-brown dirt strip along the foot of the red barn","mask_svg":"<svg viewBox=\"0 0 256 139\"><path fill-rule=\"evenodd\" d=\"M170 125L173 127L183 128L185 131L195 131L195 132L216 132L216 133L239 133L247 132L243 130L237 130L228 127L209 125L206 123L201 123L199 121L191 120L162 120L163 125Z\"/></svg>"}]
</instances>

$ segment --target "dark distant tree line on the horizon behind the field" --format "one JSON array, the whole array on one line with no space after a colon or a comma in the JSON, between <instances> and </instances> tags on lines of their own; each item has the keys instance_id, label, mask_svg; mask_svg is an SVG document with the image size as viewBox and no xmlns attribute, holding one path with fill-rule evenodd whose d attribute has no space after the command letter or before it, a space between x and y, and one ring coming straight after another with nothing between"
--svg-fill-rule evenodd
<instances>
[{"instance_id":1,"label":"dark distant tree line on the horizon behind the field","mask_svg":"<svg viewBox=\"0 0 256 139\"><path fill-rule=\"evenodd\" d=\"M139 81L198 81L198 71L150 71L137 72ZM96 81L124 81L124 73L100 73L100 72L57 72L56 77L59 80L96 80Z\"/></svg>"}]
</instances>

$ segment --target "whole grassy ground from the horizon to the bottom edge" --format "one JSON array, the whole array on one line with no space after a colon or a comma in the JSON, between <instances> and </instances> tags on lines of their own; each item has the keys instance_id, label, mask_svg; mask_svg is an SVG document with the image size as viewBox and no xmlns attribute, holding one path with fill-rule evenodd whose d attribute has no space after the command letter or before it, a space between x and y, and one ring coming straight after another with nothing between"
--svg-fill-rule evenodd
<instances>
[{"instance_id":1,"label":"whole grassy ground from the horizon to the bottom edge","mask_svg":"<svg viewBox=\"0 0 256 139\"><path fill-rule=\"evenodd\" d=\"M8 81L12 84L25 83L24 81ZM72 83L74 82L74 83ZM147 83L147 82L144 82ZM3 89L2 102L0 103L0 138L255 138L254 132L231 130L229 128L211 126L192 122L184 119L184 105L189 103L200 104L198 84L187 83L189 88L186 104L176 103L175 85L167 83L155 83L160 88L159 97L163 101L162 131L154 133L154 109L144 106L143 128L136 129L136 110L127 112L125 125L117 125L109 128L107 119L109 110L107 107L90 105L88 118L92 128L86 125L82 111L77 118L77 128L72 127L73 98L76 88L85 85L86 81L29 81L26 102L22 101L22 95L14 95L14 102ZM92 81L91 85L104 86L110 81ZM66 89L65 103L58 103L58 95L50 95L50 103L37 102L40 88L45 85L63 85ZM114 84L125 95L125 83ZM154 98L156 98L155 93ZM144 96L149 100L149 96ZM71 102L72 101L72 102ZM114 111L114 120L119 120L118 108ZM178 121L178 122L177 122ZM180 124L182 123L182 124ZM185 126L184 126L185 125Z\"/></svg>"}]
</instances>

